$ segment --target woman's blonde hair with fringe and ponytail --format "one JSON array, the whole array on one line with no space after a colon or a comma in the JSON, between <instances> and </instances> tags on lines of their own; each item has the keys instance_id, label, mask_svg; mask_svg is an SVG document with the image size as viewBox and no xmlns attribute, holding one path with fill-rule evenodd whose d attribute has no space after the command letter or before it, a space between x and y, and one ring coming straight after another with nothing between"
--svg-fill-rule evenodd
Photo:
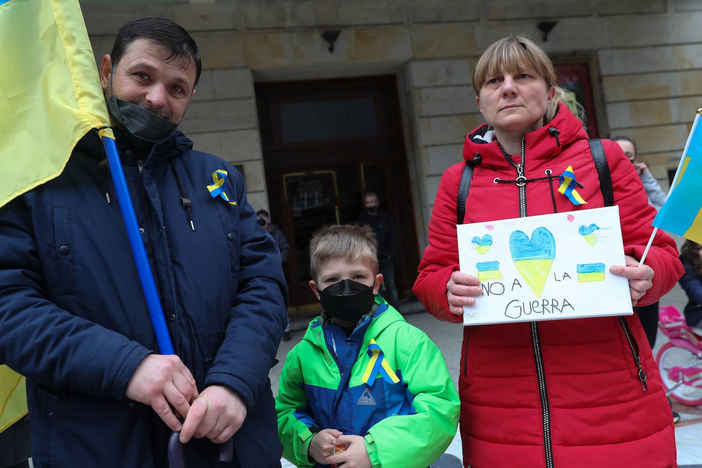
<instances>
[{"instance_id":1,"label":"woman's blonde hair with fringe and ponytail","mask_svg":"<svg viewBox=\"0 0 702 468\"><path fill-rule=\"evenodd\" d=\"M485 81L500 74L501 69L516 72L522 67L533 69L543 76L547 88L553 86L556 89L548 110L543 116L544 124L555 117L559 102L567 105L583 125L585 124L583 107L575 100L573 93L556 85L557 76L551 59L527 36L507 36L485 49L473 70L472 86L475 95L479 96Z\"/></svg>"}]
</instances>

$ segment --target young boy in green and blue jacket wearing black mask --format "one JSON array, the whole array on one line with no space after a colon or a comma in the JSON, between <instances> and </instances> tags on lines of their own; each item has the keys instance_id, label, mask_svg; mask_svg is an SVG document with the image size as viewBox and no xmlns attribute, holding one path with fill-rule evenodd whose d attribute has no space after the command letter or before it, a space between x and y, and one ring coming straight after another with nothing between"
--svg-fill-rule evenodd
<instances>
[{"instance_id":1,"label":"young boy in green and blue jacket wearing black mask","mask_svg":"<svg viewBox=\"0 0 702 468\"><path fill-rule=\"evenodd\" d=\"M298 467L428 467L456 434L458 394L439 348L378 295L373 231L321 229L310 274L324 310L283 366L283 456Z\"/></svg>"}]
</instances>

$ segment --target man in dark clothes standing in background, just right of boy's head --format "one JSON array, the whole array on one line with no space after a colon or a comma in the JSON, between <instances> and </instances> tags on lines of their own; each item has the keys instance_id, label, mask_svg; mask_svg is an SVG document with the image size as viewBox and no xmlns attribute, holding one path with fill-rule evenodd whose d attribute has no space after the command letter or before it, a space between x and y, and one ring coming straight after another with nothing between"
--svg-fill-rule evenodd
<instances>
[{"instance_id":1,"label":"man in dark clothes standing in background, just right of boy's head","mask_svg":"<svg viewBox=\"0 0 702 468\"><path fill-rule=\"evenodd\" d=\"M383 274L385 299L392 307L399 307L399 297L395 287L395 255L397 255L397 227L390 213L380 208L378 195L367 192L363 198L364 210L358 217L359 226L369 225L378 239L378 263Z\"/></svg>"}]
</instances>

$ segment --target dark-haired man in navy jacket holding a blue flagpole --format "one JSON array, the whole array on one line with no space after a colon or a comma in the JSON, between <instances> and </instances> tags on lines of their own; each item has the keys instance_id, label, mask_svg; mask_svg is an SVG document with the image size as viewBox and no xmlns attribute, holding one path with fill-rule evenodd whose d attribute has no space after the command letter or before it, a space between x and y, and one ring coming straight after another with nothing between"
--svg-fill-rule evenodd
<instances>
[{"instance_id":1,"label":"dark-haired man in navy jacket holding a blue flagpole","mask_svg":"<svg viewBox=\"0 0 702 468\"><path fill-rule=\"evenodd\" d=\"M94 132L62 175L0 208L0 363L27 376L34 467L164 467L171 431L190 467L279 466L268 372L286 286L241 174L177 127L200 72L165 18L121 27L100 67L175 355L159 354Z\"/></svg>"}]
</instances>

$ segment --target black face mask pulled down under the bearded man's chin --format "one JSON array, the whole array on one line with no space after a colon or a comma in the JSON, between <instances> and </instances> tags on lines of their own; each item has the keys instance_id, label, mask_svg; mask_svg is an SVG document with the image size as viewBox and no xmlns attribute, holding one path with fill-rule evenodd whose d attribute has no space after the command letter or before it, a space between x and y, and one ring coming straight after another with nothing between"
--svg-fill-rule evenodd
<instances>
[{"instance_id":1,"label":"black face mask pulled down under the bearded man's chin","mask_svg":"<svg viewBox=\"0 0 702 468\"><path fill-rule=\"evenodd\" d=\"M173 123L161 116L152 114L147 109L133 102L118 99L112 89L112 76L110 75L110 98L107 98L107 112L110 113L115 126L135 144L140 146L153 146L176 130L178 123Z\"/></svg>"}]
</instances>

